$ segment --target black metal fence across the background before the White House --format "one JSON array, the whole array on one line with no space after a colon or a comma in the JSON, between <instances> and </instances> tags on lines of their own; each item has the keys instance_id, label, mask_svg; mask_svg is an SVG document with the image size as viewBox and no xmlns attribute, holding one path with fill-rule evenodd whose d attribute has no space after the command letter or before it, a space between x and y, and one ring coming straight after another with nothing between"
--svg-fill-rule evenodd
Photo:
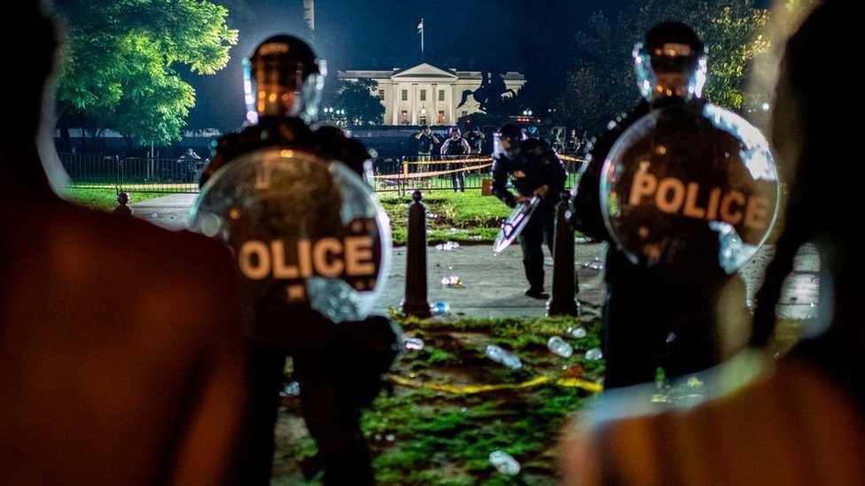
<instances>
[{"instance_id":1,"label":"black metal fence across the background before the White House","mask_svg":"<svg viewBox=\"0 0 865 486\"><path fill-rule=\"evenodd\" d=\"M567 187L571 188L582 159L560 157L568 171ZM206 162L199 158L119 158L74 153L59 154L59 159L73 187L157 193L199 192L199 175ZM374 187L400 193L414 189L483 189L484 181L490 179L491 166L492 158L474 155L448 159L379 158L373 165Z\"/></svg>"}]
</instances>

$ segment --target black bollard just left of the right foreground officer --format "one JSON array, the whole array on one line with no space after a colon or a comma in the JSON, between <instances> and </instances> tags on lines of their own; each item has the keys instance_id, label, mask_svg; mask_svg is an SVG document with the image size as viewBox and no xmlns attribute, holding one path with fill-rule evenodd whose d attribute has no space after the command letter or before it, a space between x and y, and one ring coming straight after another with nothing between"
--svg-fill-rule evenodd
<instances>
[{"instance_id":1,"label":"black bollard just left of the right foreground officer","mask_svg":"<svg viewBox=\"0 0 865 486\"><path fill-rule=\"evenodd\" d=\"M574 299L576 274L573 271L573 226L565 213L570 195L562 193L556 206L556 235L553 241L553 291L547 301L547 315L577 315Z\"/></svg>"}]
</instances>

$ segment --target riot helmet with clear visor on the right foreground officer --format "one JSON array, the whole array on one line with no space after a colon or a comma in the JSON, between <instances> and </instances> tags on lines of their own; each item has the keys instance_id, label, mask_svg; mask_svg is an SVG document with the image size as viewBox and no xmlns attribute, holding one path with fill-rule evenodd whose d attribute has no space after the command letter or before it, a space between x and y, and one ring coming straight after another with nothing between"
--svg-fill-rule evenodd
<instances>
[{"instance_id":1,"label":"riot helmet with clear visor on the right foreground officer","mask_svg":"<svg viewBox=\"0 0 865 486\"><path fill-rule=\"evenodd\" d=\"M703 96L705 46L685 24L664 22L652 27L634 46L633 56L637 87L648 101Z\"/></svg>"}]
</instances>

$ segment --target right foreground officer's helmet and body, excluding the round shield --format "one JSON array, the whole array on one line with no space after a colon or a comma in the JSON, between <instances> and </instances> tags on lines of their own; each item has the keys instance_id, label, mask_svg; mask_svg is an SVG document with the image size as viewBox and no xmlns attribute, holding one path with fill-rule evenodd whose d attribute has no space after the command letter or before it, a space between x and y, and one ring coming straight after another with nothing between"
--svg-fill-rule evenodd
<instances>
[{"instance_id":1,"label":"right foreground officer's helmet and body, excluding the round shield","mask_svg":"<svg viewBox=\"0 0 865 486\"><path fill-rule=\"evenodd\" d=\"M610 243L604 274L606 389L649 382L658 366L674 376L716 364L720 357L714 322L720 317L714 310L721 289L731 282L717 267L691 282L666 274L662 268L638 266L604 226L601 168L620 135L652 110L677 106L698 113L705 104L705 48L690 27L665 22L651 28L644 42L635 47L634 58L643 98L588 144L588 166L573 199L574 228ZM744 287L740 290L744 293ZM744 295L741 307L744 309Z\"/></svg>"}]
</instances>

